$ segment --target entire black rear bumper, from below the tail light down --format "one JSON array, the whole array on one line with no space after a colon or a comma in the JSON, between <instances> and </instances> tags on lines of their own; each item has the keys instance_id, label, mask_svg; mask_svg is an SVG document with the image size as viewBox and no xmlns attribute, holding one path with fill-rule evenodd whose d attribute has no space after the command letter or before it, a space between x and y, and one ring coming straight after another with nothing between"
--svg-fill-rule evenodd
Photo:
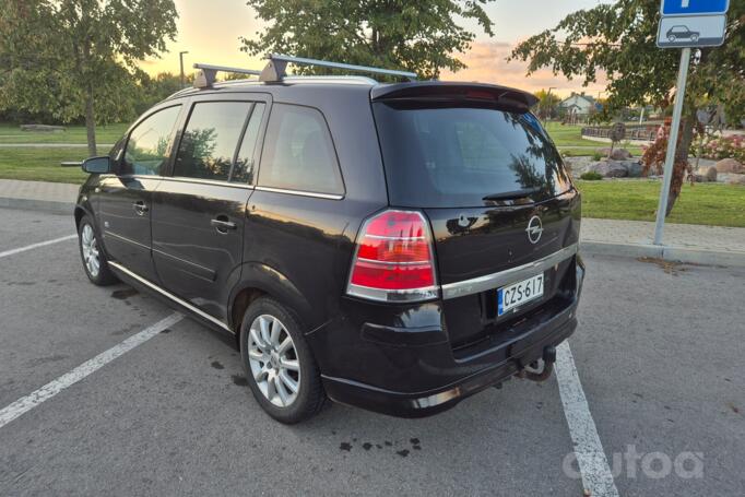
<instances>
[{"instance_id":1,"label":"entire black rear bumper, from below the tail light down","mask_svg":"<svg viewBox=\"0 0 745 497\"><path fill-rule=\"evenodd\" d=\"M584 276L579 257L575 267L576 289L560 311L456 351L438 303L369 309L359 306L370 304L348 301L342 319L309 335L327 394L369 411L423 417L510 378L577 328ZM383 324L370 326L375 317Z\"/></svg>"}]
</instances>

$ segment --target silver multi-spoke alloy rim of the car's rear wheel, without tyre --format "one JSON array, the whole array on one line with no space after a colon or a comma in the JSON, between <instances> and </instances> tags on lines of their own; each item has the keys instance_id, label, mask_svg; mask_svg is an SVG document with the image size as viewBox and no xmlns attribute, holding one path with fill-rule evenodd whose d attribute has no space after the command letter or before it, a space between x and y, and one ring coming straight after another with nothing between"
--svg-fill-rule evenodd
<instances>
[{"instance_id":1,"label":"silver multi-spoke alloy rim of the car's rear wheel, without tyre","mask_svg":"<svg viewBox=\"0 0 745 497\"><path fill-rule=\"evenodd\" d=\"M277 407L287 407L300 389L300 363L295 343L282 322L261 315L248 334L248 364L259 390Z\"/></svg>"}]
</instances>

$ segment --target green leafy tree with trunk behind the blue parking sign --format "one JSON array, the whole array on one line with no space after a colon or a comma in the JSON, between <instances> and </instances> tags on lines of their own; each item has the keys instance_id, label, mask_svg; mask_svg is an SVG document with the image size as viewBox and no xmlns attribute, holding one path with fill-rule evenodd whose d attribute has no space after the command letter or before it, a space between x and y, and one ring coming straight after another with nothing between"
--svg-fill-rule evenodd
<instances>
[{"instance_id":1,"label":"green leafy tree with trunk behind the blue parking sign","mask_svg":"<svg viewBox=\"0 0 745 497\"><path fill-rule=\"evenodd\" d=\"M679 50L654 45L659 0L618 0L567 15L558 25L520 43L508 60L529 61L528 73L551 68L554 74L581 78L584 85L604 72L608 84L604 118L624 107L647 103L666 107L674 97ZM696 107L705 99L722 102L729 113L745 115L745 1L733 0L722 47L701 50L691 66L666 214L681 192L694 138Z\"/></svg>"}]
</instances>

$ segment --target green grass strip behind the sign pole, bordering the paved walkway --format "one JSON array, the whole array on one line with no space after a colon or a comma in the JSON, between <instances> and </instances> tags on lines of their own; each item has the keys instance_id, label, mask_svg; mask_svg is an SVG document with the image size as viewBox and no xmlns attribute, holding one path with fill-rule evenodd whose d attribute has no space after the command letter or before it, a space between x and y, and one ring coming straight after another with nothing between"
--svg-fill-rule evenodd
<instances>
[{"instance_id":1,"label":"green grass strip behind the sign pole, bordering the paved walkway","mask_svg":"<svg viewBox=\"0 0 745 497\"><path fill-rule=\"evenodd\" d=\"M660 185L653 180L577 181L582 192L582 215L654 221ZM745 227L745 187L684 185L667 222Z\"/></svg>"}]
</instances>

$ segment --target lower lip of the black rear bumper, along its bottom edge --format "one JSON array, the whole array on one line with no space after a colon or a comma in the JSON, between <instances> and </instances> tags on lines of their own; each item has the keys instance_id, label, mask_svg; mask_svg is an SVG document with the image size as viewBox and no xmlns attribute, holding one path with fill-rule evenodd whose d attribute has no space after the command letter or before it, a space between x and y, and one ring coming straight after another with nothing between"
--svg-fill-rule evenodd
<instances>
[{"instance_id":1,"label":"lower lip of the black rear bumper, along its bottom edge","mask_svg":"<svg viewBox=\"0 0 745 497\"><path fill-rule=\"evenodd\" d=\"M358 381L323 376L326 392L335 402L400 417L424 417L453 407L461 400L497 384L541 358L544 347L558 345L575 331L576 305L528 335L506 343L507 359L454 383L414 393L387 390Z\"/></svg>"}]
</instances>

